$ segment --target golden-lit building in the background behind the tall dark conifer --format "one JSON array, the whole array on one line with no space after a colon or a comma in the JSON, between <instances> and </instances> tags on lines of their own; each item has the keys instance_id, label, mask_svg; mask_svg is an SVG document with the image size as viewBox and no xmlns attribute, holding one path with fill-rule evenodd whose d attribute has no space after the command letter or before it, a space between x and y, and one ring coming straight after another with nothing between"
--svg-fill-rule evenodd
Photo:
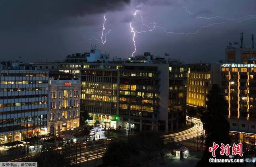
<instances>
[{"instance_id":1,"label":"golden-lit building in the background behind the tall dark conifer","mask_svg":"<svg viewBox=\"0 0 256 167\"><path fill-rule=\"evenodd\" d=\"M220 85L220 64L189 64L187 75L187 105L206 108L206 95L212 84Z\"/></svg>"}]
</instances>

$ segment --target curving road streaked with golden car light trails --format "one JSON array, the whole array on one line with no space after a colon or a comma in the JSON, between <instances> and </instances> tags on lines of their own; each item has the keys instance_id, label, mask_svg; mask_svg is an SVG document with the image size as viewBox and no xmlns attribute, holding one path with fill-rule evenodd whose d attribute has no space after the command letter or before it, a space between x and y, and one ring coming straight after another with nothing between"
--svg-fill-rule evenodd
<instances>
[{"instance_id":1,"label":"curving road streaked with golden car light trails","mask_svg":"<svg viewBox=\"0 0 256 167\"><path fill-rule=\"evenodd\" d=\"M197 135L199 133L199 135L202 132L202 122L197 119L197 118L193 118L193 122L194 122L194 126L192 128L186 129L182 132L177 132L174 134L168 134L168 135L163 135L164 138L164 142L167 143L169 141L174 141L174 142L179 142L179 141L184 141L187 139L191 139L191 138L195 138L197 139ZM118 138L116 138L115 140L126 140L127 136L120 136ZM171 140L172 139L172 140ZM109 141L109 142L113 142L113 141ZM81 161L81 163L84 163L86 161L91 161L91 160L95 160L97 158L100 158L104 155L104 152L106 151L106 145L108 144L108 141L104 141L103 143L95 143L93 145L90 146L81 146L81 159L80 159L80 147L78 146L76 147L71 147L69 149L62 149L59 151L67 151L68 155L70 156L70 158L72 159L72 163L79 163L79 161ZM34 159L36 157L37 154L30 154L30 155L26 155L24 157L18 158L18 159L13 159L11 161L29 161ZM89 156L89 157L88 157ZM74 161L75 159L75 161Z\"/></svg>"}]
</instances>

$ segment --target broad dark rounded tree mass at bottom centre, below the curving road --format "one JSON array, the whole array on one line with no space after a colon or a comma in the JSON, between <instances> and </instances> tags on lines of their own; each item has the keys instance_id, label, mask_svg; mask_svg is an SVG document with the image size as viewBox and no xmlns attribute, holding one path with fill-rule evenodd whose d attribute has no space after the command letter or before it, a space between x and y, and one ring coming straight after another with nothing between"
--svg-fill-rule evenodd
<instances>
[{"instance_id":1,"label":"broad dark rounded tree mass at bottom centre, below the curving road","mask_svg":"<svg viewBox=\"0 0 256 167\"><path fill-rule=\"evenodd\" d=\"M163 156L164 141L159 133L141 132L128 141L116 141L108 144L103 157L104 165L118 167L140 167L149 164L158 154Z\"/></svg>"}]
</instances>

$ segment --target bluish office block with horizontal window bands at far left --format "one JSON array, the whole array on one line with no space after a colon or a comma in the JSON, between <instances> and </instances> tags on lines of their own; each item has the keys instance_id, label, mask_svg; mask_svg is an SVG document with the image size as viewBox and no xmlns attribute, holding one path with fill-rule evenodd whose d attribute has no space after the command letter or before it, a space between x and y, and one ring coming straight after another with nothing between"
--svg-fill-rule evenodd
<instances>
[{"instance_id":1,"label":"bluish office block with horizontal window bands at far left","mask_svg":"<svg viewBox=\"0 0 256 167\"><path fill-rule=\"evenodd\" d=\"M0 142L47 133L48 71L0 70Z\"/></svg>"}]
</instances>

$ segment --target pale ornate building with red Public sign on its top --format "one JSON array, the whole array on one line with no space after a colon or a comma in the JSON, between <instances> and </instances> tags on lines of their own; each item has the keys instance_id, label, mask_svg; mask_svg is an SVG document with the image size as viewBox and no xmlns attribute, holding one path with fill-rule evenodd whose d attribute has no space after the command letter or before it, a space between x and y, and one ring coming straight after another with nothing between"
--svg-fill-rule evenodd
<instances>
[{"instance_id":1,"label":"pale ornate building with red Public sign on its top","mask_svg":"<svg viewBox=\"0 0 256 167\"><path fill-rule=\"evenodd\" d=\"M50 78L48 89L48 132L74 130L79 127L80 79Z\"/></svg>"}]
</instances>

